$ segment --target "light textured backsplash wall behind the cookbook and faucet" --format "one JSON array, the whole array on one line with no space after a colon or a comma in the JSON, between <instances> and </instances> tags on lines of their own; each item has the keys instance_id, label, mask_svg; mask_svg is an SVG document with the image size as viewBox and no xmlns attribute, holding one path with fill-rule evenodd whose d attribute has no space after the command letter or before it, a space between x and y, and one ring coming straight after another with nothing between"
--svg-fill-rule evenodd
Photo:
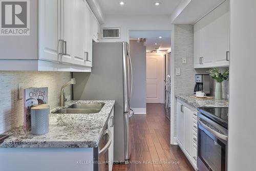
<instances>
[{"instance_id":1,"label":"light textured backsplash wall behind the cookbook and faucet","mask_svg":"<svg viewBox=\"0 0 256 171\"><path fill-rule=\"evenodd\" d=\"M0 71L0 134L23 124L23 100L18 100L18 83L25 88L48 87L50 108L57 106L61 86L71 78L69 72ZM70 99L71 87L65 90Z\"/></svg>"}]
</instances>

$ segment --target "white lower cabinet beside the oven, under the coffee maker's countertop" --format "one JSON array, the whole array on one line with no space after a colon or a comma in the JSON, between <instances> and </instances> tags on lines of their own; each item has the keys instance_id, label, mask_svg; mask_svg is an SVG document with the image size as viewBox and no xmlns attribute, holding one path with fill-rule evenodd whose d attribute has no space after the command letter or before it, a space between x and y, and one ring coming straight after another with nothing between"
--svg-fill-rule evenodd
<instances>
[{"instance_id":1,"label":"white lower cabinet beside the oven, under the coffee maker's countertop","mask_svg":"<svg viewBox=\"0 0 256 171\"><path fill-rule=\"evenodd\" d=\"M177 102L177 142L197 170L197 110L181 100Z\"/></svg>"}]
</instances>

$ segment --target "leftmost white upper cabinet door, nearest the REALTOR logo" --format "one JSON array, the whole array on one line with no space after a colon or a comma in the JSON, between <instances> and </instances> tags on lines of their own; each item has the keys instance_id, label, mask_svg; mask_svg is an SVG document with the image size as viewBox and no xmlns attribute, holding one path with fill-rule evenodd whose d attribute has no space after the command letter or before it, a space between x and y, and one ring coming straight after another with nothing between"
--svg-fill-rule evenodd
<instances>
[{"instance_id":1,"label":"leftmost white upper cabinet door, nearest the REALTOR logo","mask_svg":"<svg viewBox=\"0 0 256 171\"><path fill-rule=\"evenodd\" d=\"M39 59L57 61L60 39L60 1L39 3Z\"/></svg>"}]
</instances>

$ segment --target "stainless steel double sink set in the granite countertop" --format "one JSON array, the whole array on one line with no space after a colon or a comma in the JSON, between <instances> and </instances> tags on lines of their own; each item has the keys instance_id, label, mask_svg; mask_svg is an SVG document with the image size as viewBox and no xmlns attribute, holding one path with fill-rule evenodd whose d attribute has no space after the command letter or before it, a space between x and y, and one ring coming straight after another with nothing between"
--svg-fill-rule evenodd
<instances>
[{"instance_id":1,"label":"stainless steel double sink set in the granite countertop","mask_svg":"<svg viewBox=\"0 0 256 171\"><path fill-rule=\"evenodd\" d=\"M53 114L95 114L99 113L105 103L76 103L67 109L59 109Z\"/></svg>"}]
</instances>

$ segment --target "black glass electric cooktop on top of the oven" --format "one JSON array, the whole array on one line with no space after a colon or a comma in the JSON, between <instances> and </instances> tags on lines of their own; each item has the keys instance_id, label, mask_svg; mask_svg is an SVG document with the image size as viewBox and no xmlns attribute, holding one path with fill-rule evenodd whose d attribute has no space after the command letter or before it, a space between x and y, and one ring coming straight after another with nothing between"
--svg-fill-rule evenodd
<instances>
[{"instance_id":1,"label":"black glass electric cooktop on top of the oven","mask_svg":"<svg viewBox=\"0 0 256 171\"><path fill-rule=\"evenodd\" d=\"M224 127L228 127L228 108L198 108L198 111Z\"/></svg>"}]
</instances>

